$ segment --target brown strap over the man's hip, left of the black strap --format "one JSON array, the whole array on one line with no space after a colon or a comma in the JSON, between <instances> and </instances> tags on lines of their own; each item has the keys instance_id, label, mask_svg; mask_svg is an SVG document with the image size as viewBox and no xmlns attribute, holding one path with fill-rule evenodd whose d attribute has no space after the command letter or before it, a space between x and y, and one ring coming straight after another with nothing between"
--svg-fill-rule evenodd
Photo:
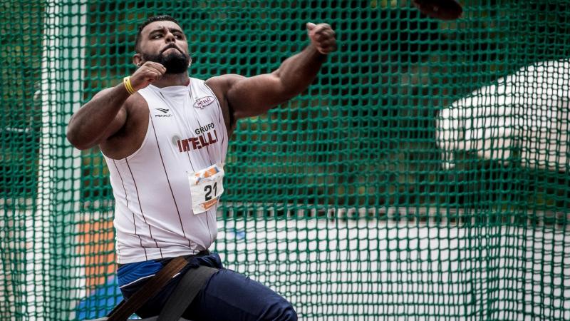
<instances>
[{"instance_id":1,"label":"brown strap over the man's hip, left of the black strap","mask_svg":"<svg viewBox=\"0 0 570 321\"><path fill-rule=\"evenodd\" d=\"M135 313L136 310L140 309L142 305L147 302L151 297L162 290L168 281L172 279L183 267L187 265L185 258L178 257L170 261L150 280L148 280L145 285L135 292L135 294L129 297L128 300L120 302L113 311L110 312L108 321L125 321L130 315Z\"/></svg>"}]
</instances>

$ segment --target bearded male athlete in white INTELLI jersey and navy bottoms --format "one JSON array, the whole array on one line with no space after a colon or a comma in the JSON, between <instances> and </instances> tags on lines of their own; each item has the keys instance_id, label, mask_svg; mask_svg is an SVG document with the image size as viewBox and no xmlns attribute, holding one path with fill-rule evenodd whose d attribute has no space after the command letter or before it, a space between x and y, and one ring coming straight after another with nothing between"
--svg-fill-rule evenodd
<instances>
[{"instance_id":1,"label":"bearded male athlete in white INTELLI jersey and navy bottoms","mask_svg":"<svg viewBox=\"0 0 570 321\"><path fill-rule=\"evenodd\" d=\"M105 88L69 121L68 140L100 147L115 196L118 280L125 298L172 258L187 268L219 268L183 317L190 320L296 320L283 297L222 268L207 249L217 235L228 138L239 118L257 116L304 91L336 49L327 24L307 24L310 43L272 73L189 78L187 38L171 16L140 26L123 83ZM158 315L179 277L138 310Z\"/></svg>"}]
</instances>

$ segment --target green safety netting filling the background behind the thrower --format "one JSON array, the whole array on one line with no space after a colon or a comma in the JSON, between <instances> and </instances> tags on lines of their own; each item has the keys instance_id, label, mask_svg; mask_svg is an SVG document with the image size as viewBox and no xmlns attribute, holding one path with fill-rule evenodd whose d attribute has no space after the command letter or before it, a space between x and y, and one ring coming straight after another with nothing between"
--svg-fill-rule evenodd
<instances>
[{"instance_id":1,"label":"green safety netting filling the background behind the thrower","mask_svg":"<svg viewBox=\"0 0 570 321\"><path fill-rule=\"evenodd\" d=\"M172 14L197 78L273 70L306 21L338 36L305 93L238 123L227 267L302 320L570 320L570 1L463 0L452 22L409 2L1 0L0 319L118 302L108 170L66 124Z\"/></svg>"}]
</instances>

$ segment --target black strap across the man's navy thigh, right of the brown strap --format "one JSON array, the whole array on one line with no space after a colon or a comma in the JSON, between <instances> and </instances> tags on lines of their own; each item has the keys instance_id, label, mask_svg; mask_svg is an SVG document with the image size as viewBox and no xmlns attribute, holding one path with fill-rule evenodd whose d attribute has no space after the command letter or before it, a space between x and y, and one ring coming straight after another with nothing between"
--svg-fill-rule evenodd
<instances>
[{"instance_id":1,"label":"black strap across the man's navy thigh, right of the brown strap","mask_svg":"<svg viewBox=\"0 0 570 321\"><path fill-rule=\"evenodd\" d=\"M198 292L208 282L209 278L218 269L207 266L200 266L190 269L176 288L170 294L166 304L162 307L157 321L178 321L186 308L192 303Z\"/></svg>"}]
</instances>

